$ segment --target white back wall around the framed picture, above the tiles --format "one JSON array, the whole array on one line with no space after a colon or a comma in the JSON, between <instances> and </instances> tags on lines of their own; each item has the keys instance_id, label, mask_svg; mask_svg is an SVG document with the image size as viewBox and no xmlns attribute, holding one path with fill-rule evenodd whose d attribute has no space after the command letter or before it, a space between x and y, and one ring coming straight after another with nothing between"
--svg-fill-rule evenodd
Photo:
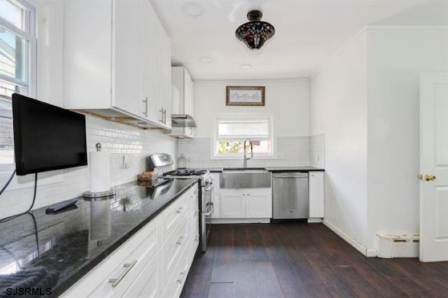
<instances>
[{"instance_id":1,"label":"white back wall around the framed picture, above the tiles","mask_svg":"<svg viewBox=\"0 0 448 298\"><path fill-rule=\"evenodd\" d=\"M226 106L225 86L266 86L265 106ZM198 138L214 136L214 115L269 113L274 116L274 136L309 136L309 80L195 81L195 120Z\"/></svg>"}]
</instances>

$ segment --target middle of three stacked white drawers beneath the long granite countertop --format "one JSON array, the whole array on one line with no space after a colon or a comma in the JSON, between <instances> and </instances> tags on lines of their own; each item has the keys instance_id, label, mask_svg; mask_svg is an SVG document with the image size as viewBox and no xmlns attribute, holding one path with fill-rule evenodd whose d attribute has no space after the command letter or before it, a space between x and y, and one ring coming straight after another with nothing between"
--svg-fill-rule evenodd
<instances>
[{"instance_id":1,"label":"middle of three stacked white drawers beneath the long granite countertop","mask_svg":"<svg viewBox=\"0 0 448 298\"><path fill-rule=\"evenodd\" d=\"M184 216L180 222L180 225L176 227L174 232L162 246L163 273L166 277L165 281L167 281L174 273L174 267L181 256L181 252L188 246L189 242L188 222L187 218Z\"/></svg>"}]
</instances>

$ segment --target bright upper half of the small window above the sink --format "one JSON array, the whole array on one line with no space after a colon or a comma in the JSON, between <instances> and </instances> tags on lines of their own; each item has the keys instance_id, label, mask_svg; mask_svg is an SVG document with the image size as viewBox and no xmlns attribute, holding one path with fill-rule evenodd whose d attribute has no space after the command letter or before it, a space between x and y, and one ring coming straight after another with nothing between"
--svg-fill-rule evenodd
<instances>
[{"instance_id":1,"label":"bright upper half of the small window above the sink","mask_svg":"<svg viewBox=\"0 0 448 298\"><path fill-rule=\"evenodd\" d=\"M218 122L218 137L250 137L257 136L262 138L269 137L269 121L267 120L248 120L248 121L225 121Z\"/></svg>"}]
</instances>

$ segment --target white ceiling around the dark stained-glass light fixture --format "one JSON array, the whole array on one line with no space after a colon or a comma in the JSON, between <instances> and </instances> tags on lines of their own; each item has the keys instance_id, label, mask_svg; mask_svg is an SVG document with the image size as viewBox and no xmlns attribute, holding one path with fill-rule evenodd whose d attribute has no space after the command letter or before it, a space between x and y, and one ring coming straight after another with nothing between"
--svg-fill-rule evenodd
<instances>
[{"instance_id":1,"label":"white ceiling around the dark stained-glass light fixture","mask_svg":"<svg viewBox=\"0 0 448 298\"><path fill-rule=\"evenodd\" d=\"M367 24L425 0L152 0L172 39L172 62L195 80L307 78ZM197 6L199 4L199 6ZM276 29L261 50L235 37L246 13L262 10ZM198 10L199 9L199 10ZM200 15L188 15L185 11ZM202 12L201 12L202 10ZM200 57L211 57L209 63ZM241 64L250 64L242 69Z\"/></svg>"}]
</instances>

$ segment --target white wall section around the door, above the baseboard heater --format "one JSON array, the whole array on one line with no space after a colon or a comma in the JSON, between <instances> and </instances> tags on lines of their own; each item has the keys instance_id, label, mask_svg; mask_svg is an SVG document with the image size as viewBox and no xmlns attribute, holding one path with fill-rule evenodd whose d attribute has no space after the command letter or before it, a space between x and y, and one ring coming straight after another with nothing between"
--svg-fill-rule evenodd
<instances>
[{"instance_id":1,"label":"white wall section around the door, above the baseboard heater","mask_svg":"<svg viewBox=\"0 0 448 298\"><path fill-rule=\"evenodd\" d=\"M367 246L374 248L379 232L419 234L419 75L448 71L448 28L369 29L367 49Z\"/></svg>"}]
</instances>

